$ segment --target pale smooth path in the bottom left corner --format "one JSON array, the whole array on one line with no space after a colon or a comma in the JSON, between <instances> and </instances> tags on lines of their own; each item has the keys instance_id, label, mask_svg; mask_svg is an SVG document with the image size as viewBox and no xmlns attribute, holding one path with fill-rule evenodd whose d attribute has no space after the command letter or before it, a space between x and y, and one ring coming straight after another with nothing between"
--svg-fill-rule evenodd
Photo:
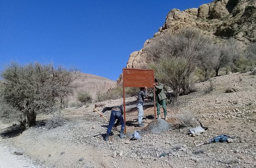
<instances>
[{"instance_id":1,"label":"pale smooth path in the bottom left corner","mask_svg":"<svg viewBox=\"0 0 256 168\"><path fill-rule=\"evenodd\" d=\"M7 146L0 143L0 168L41 168L23 155L14 155Z\"/></svg>"}]
</instances>

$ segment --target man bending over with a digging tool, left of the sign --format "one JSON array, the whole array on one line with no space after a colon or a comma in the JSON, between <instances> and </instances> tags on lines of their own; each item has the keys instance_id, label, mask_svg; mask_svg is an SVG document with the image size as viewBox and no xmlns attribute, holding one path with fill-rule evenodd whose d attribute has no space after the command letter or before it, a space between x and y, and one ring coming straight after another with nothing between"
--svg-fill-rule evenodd
<instances>
[{"instance_id":1,"label":"man bending over with a digging tool, left of the sign","mask_svg":"<svg viewBox=\"0 0 256 168\"><path fill-rule=\"evenodd\" d=\"M104 113L107 110L111 110L111 115L109 118L109 126L107 128L107 135L105 137L105 141L108 141L110 132L114 126L116 119L121 123L120 138L126 138L126 136L124 135L123 105L113 106L113 107L105 107L101 112ZM116 122L115 127L119 124L118 121Z\"/></svg>"}]
</instances>

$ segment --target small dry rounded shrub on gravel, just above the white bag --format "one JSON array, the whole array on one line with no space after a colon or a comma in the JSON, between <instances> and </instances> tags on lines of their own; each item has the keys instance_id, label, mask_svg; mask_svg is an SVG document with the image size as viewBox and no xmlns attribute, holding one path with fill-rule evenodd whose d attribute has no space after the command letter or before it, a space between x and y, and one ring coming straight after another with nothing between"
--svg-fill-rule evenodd
<instances>
[{"instance_id":1,"label":"small dry rounded shrub on gravel, just above the white bag","mask_svg":"<svg viewBox=\"0 0 256 168\"><path fill-rule=\"evenodd\" d=\"M194 127L198 124L196 117L191 112L183 112L177 116L180 127Z\"/></svg>"}]
</instances>

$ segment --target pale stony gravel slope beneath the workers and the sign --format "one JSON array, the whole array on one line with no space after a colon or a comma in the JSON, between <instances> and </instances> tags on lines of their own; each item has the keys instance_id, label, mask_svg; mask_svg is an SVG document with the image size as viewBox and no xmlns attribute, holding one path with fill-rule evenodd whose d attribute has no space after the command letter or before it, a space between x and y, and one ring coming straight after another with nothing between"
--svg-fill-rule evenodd
<instances>
[{"instance_id":1,"label":"pale stony gravel slope beneath the workers and the sign","mask_svg":"<svg viewBox=\"0 0 256 168\"><path fill-rule=\"evenodd\" d=\"M248 73L235 73L213 78L213 82L212 92L204 93L209 82L199 82L197 92L180 96L175 106L168 106L167 122L153 120L154 109L149 101L144 106L143 128L136 125L136 98L127 98L124 139L113 130L109 141L103 140L108 123L93 112L92 104L88 108L64 109L66 121L62 127L47 129L38 124L18 136L4 137L2 143L22 148L26 155L49 168L256 168L256 78ZM225 93L228 87L239 91ZM122 101L100 104L114 106ZM177 127L178 116L185 112L199 118L209 129L189 136L187 130L192 127ZM104 115L109 118L110 112ZM38 116L39 120L43 118L47 116ZM139 140L130 140L134 131L140 132ZM224 133L233 143L195 146Z\"/></svg>"}]
</instances>

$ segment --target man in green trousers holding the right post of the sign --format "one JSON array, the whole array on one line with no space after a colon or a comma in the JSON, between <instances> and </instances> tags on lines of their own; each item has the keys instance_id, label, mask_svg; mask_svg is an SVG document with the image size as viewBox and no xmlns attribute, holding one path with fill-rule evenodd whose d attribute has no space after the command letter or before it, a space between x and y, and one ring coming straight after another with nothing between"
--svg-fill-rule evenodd
<instances>
[{"instance_id":1,"label":"man in green trousers holding the right post of the sign","mask_svg":"<svg viewBox=\"0 0 256 168\"><path fill-rule=\"evenodd\" d=\"M156 111L158 118L161 118L160 106L162 106L164 109L164 120L167 120L166 95L164 94L164 85L159 83L157 79L155 79L155 83L153 85L156 89Z\"/></svg>"}]
</instances>

